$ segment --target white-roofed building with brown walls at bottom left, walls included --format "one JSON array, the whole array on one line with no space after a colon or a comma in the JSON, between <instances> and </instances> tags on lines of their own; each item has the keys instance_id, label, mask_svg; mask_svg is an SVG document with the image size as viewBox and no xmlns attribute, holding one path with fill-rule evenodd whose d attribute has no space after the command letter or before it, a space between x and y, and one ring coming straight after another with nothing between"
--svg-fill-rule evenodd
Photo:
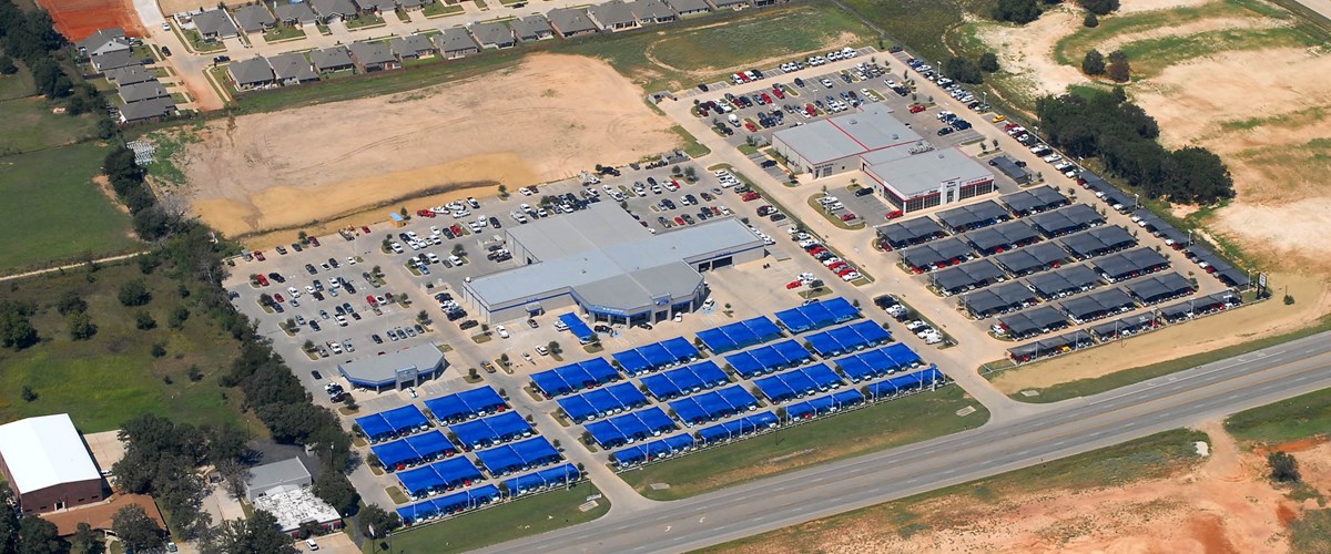
<instances>
[{"instance_id":1,"label":"white-roofed building with brown walls at bottom left, walls included","mask_svg":"<svg viewBox=\"0 0 1331 554\"><path fill-rule=\"evenodd\" d=\"M0 472L23 511L53 511L104 500L101 474L68 413L0 425Z\"/></svg>"}]
</instances>

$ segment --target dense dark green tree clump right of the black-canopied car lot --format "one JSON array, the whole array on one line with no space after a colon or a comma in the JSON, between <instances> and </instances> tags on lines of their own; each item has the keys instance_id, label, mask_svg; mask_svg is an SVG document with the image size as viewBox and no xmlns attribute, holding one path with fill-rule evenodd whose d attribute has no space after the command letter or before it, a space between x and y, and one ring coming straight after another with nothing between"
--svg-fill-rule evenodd
<instances>
[{"instance_id":1,"label":"dense dark green tree clump right of the black-canopied car lot","mask_svg":"<svg viewBox=\"0 0 1331 554\"><path fill-rule=\"evenodd\" d=\"M1067 155L1098 157L1110 174L1149 198L1197 205L1234 198L1234 179L1218 155L1205 147L1161 146L1159 125L1122 89L1047 96L1036 112L1050 145Z\"/></svg>"}]
</instances>

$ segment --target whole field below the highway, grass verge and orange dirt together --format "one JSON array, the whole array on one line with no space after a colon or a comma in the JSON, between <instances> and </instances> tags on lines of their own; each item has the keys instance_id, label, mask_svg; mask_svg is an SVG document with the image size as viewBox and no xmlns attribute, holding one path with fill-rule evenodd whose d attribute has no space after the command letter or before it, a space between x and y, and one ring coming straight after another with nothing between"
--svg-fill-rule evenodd
<instances>
[{"instance_id":1,"label":"whole field below the highway, grass verge and orange dirt together","mask_svg":"<svg viewBox=\"0 0 1331 554\"><path fill-rule=\"evenodd\" d=\"M1288 550L1291 521L1300 513L1320 517L1316 501L1272 486L1264 454L1242 450L1219 422L1203 429L1165 432L711 551ZM1207 442L1205 458L1198 441ZM1296 456L1304 480L1326 490L1331 446Z\"/></svg>"}]
</instances>

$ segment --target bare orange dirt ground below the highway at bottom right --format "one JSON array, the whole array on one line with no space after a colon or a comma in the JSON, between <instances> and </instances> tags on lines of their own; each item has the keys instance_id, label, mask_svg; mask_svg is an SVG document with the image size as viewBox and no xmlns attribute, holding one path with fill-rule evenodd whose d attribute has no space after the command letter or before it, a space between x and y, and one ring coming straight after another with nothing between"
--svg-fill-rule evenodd
<instances>
[{"instance_id":1,"label":"bare orange dirt ground below the highway at bottom right","mask_svg":"<svg viewBox=\"0 0 1331 554\"><path fill-rule=\"evenodd\" d=\"M1266 478L1264 454L1240 450L1219 422L1203 430L1210 436L1207 458L1193 470L1166 478L986 500L953 494L836 525L811 522L796 527L804 533L781 533L776 539L733 551L1288 551L1288 522L1303 509L1316 508L1316 501L1296 502L1272 488ZM1303 449L1298 458L1308 485L1319 490L1331 486L1331 445ZM918 523L902 525L904 510ZM882 515L897 521L884 521Z\"/></svg>"}]
</instances>

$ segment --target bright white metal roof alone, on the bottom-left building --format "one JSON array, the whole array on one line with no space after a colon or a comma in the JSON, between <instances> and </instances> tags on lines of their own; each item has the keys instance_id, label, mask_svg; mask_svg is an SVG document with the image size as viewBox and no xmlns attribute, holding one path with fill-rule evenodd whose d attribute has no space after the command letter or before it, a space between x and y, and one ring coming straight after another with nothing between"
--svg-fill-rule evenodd
<instances>
[{"instance_id":1,"label":"bright white metal roof alone, on the bottom-left building","mask_svg":"<svg viewBox=\"0 0 1331 554\"><path fill-rule=\"evenodd\" d=\"M68 413L0 425L0 458L24 494L101 478Z\"/></svg>"}]
</instances>

